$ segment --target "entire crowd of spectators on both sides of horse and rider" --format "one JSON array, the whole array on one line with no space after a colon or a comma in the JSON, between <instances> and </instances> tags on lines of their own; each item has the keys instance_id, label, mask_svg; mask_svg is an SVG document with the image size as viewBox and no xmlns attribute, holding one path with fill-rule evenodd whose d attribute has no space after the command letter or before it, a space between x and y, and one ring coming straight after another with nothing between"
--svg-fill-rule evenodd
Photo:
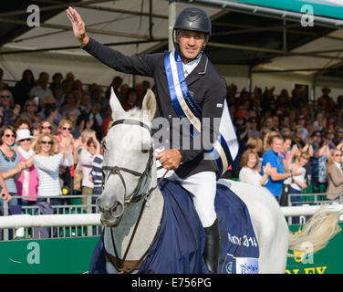
<instances>
[{"instance_id":1,"label":"entire crowd of spectators on both sides of horse and rider","mask_svg":"<svg viewBox=\"0 0 343 292\"><path fill-rule=\"evenodd\" d=\"M0 68L0 204L14 206L10 214L16 214L15 206L44 201L42 196L63 204L62 193L101 193L100 145L111 122L110 87L130 110L151 84L130 88L117 76L104 88L85 85L71 72L50 79L47 72L35 78L26 69L10 87ZM266 187L276 199L286 184L291 193L311 185L314 193L327 191L333 193L327 199L336 200L343 192L343 95L333 99L329 93L322 89L313 102L301 89L276 95L275 88L248 92L228 85L239 152L227 173Z\"/></svg>"}]
</instances>

